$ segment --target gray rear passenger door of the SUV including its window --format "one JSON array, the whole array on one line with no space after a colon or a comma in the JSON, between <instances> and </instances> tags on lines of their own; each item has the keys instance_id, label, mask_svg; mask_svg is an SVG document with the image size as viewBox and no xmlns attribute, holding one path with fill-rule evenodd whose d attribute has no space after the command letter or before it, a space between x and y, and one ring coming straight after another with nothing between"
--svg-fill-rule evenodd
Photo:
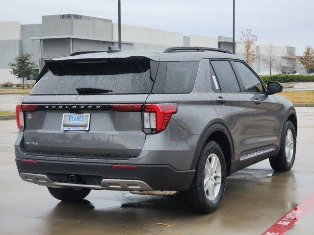
<instances>
[{"instance_id":1,"label":"gray rear passenger door of the SUV including its window","mask_svg":"<svg viewBox=\"0 0 314 235\"><path fill-rule=\"evenodd\" d=\"M214 108L229 129L235 148L235 159L255 148L255 121L257 105L252 95L242 93L242 84L235 76L229 60L210 60L208 64L209 95Z\"/></svg>"}]
</instances>

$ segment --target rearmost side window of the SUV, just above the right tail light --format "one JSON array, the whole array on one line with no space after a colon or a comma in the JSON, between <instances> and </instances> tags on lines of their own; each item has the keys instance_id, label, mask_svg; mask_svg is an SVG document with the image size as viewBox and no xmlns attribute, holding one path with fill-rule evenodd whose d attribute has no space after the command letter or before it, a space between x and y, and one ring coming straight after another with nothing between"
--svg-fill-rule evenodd
<instances>
[{"instance_id":1,"label":"rearmost side window of the SUV, just above the right tail light","mask_svg":"<svg viewBox=\"0 0 314 235\"><path fill-rule=\"evenodd\" d=\"M190 93L193 90L199 61L167 62L164 93Z\"/></svg>"}]
</instances>

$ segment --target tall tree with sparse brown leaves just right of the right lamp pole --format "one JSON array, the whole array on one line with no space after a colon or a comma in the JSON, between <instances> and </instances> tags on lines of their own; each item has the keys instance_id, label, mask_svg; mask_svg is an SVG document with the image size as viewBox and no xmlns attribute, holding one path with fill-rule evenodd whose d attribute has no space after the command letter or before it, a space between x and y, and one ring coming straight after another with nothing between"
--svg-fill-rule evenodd
<instances>
[{"instance_id":1,"label":"tall tree with sparse brown leaves just right of the right lamp pole","mask_svg":"<svg viewBox=\"0 0 314 235\"><path fill-rule=\"evenodd\" d=\"M255 42L257 41L257 36L252 33L251 29L247 29L241 32L242 36L240 38L244 45L244 60L250 66L256 61L256 47Z\"/></svg>"}]
</instances>

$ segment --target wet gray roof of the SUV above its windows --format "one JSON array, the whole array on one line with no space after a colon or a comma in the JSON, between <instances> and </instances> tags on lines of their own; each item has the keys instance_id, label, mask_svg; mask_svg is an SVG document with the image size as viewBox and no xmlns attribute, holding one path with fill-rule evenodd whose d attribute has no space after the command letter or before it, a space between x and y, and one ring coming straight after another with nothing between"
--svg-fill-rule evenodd
<instances>
[{"instance_id":1,"label":"wet gray roof of the SUV above its windows","mask_svg":"<svg viewBox=\"0 0 314 235\"><path fill-rule=\"evenodd\" d=\"M163 53L163 50L136 50L121 51L115 53L96 52L88 54L80 54L74 56L54 58L47 61L63 61L63 60L81 60L81 59L109 59L109 58L139 58L146 57L155 61L199 61L205 58L225 58L240 59L234 54L228 54L215 51L204 52L179 52L179 53Z\"/></svg>"}]
</instances>

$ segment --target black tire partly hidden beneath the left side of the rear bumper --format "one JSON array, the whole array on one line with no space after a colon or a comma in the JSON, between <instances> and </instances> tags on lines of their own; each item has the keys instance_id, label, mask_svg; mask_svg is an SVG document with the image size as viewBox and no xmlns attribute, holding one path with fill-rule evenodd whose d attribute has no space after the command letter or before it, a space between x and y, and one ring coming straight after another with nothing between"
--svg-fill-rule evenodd
<instances>
[{"instance_id":1,"label":"black tire partly hidden beneath the left side of the rear bumper","mask_svg":"<svg viewBox=\"0 0 314 235\"><path fill-rule=\"evenodd\" d=\"M62 202L81 202L91 191L91 189L87 188L79 190L74 190L73 188L47 188L54 198Z\"/></svg>"}]
</instances>

